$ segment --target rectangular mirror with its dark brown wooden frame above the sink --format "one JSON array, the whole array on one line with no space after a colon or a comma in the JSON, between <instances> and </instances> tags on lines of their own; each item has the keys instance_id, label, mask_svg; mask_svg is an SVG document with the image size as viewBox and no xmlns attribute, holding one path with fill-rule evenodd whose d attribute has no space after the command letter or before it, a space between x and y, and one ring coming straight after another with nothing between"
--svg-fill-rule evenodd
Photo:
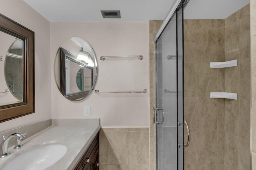
<instances>
[{"instance_id":1,"label":"rectangular mirror with its dark brown wooden frame above the sink","mask_svg":"<svg viewBox=\"0 0 256 170\"><path fill-rule=\"evenodd\" d=\"M34 32L0 14L0 40L0 122L4 122L35 112Z\"/></svg>"}]
</instances>

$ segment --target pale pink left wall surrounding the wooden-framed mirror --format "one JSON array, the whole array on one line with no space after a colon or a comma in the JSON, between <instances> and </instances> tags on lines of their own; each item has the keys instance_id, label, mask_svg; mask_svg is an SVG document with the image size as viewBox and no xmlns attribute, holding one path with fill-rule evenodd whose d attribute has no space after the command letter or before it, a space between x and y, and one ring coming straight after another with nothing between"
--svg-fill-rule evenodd
<instances>
[{"instance_id":1,"label":"pale pink left wall surrounding the wooden-framed mirror","mask_svg":"<svg viewBox=\"0 0 256 170\"><path fill-rule=\"evenodd\" d=\"M28 6L23 0L2 0L0 12L35 32L36 113L0 123L0 132L2 132L51 119L51 64L50 22Z\"/></svg>"}]
</instances>

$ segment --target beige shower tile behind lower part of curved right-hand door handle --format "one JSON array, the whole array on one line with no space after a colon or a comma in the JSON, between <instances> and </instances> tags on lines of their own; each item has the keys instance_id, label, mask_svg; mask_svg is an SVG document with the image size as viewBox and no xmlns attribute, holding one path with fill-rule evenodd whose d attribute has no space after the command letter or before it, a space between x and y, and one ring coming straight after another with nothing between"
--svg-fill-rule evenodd
<instances>
[{"instance_id":1,"label":"beige shower tile behind lower part of curved right-hand door handle","mask_svg":"<svg viewBox=\"0 0 256 170\"><path fill-rule=\"evenodd\" d=\"M190 131L190 144L184 150L184 162L186 164L194 164L196 162L196 131ZM184 141L188 140L188 136L184 135Z\"/></svg>"}]
</instances>

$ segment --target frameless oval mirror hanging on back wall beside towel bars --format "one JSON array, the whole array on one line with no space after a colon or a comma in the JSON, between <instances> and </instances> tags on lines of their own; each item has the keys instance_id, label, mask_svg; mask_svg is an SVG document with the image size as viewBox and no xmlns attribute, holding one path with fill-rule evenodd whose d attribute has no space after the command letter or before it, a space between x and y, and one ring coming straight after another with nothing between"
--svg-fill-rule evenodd
<instances>
[{"instance_id":1,"label":"frameless oval mirror hanging on back wall beside towel bars","mask_svg":"<svg viewBox=\"0 0 256 170\"><path fill-rule=\"evenodd\" d=\"M86 40L72 37L60 45L54 61L54 78L60 93L71 101L81 101L92 92L97 61Z\"/></svg>"}]
</instances>

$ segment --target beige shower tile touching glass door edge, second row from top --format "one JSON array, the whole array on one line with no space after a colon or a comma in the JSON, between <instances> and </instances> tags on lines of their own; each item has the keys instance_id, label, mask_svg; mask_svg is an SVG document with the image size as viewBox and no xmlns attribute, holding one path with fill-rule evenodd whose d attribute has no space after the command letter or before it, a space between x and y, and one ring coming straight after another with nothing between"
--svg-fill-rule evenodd
<instances>
[{"instance_id":1,"label":"beige shower tile touching glass door edge, second row from top","mask_svg":"<svg viewBox=\"0 0 256 170\"><path fill-rule=\"evenodd\" d=\"M196 29L184 29L184 63L196 63Z\"/></svg>"}]
</instances>

